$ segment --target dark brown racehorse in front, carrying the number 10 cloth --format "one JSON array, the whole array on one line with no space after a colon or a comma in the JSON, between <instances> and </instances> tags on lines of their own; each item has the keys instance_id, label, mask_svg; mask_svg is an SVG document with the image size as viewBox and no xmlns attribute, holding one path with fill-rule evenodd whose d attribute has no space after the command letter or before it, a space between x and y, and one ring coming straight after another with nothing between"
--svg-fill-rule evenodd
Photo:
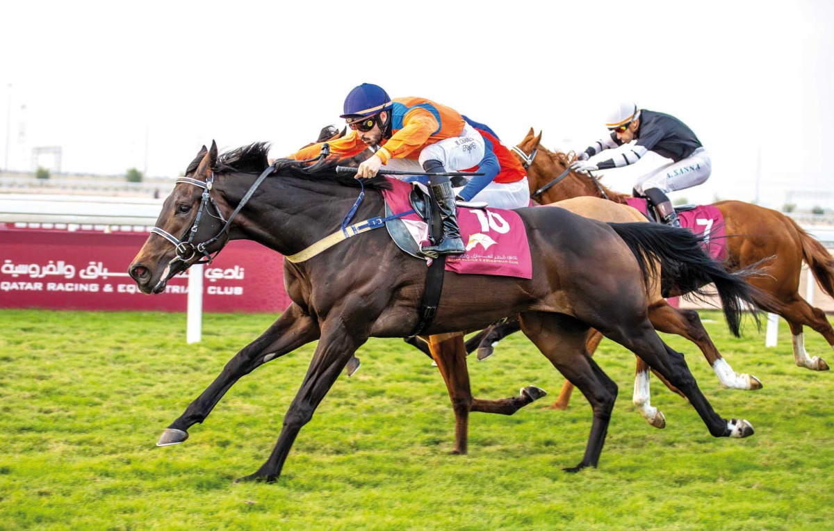
<instances>
[{"instance_id":1,"label":"dark brown racehorse in front, carrying the number 10 cloth","mask_svg":"<svg viewBox=\"0 0 834 531\"><path fill-rule=\"evenodd\" d=\"M318 339L272 454L244 478L274 481L299 430L355 350L369 337L402 338L414 328L426 267L399 252L387 233L378 230L304 260L293 258L329 235L344 234L340 222L356 202L358 182L327 166L299 168L294 161L280 161L267 168L266 153L263 144L222 157L214 143L203 148L163 203L156 228L128 273L143 293L161 293L168 279L219 252L229 239L252 239L287 257L284 278L293 303L227 363L158 442L182 443L188 428L203 422L239 378ZM373 191L389 186L387 180L374 178L365 186L369 193L356 212L362 222L352 227L384 213L382 195ZM716 283L737 327L741 304L752 303L748 285L712 263L700 248L700 238L650 223L599 223L562 208L517 212L530 240L533 278L447 275L440 308L427 332L485 328L520 315L525 335L593 408L585 456L571 471L598 463L616 398L615 383L585 351L590 327L629 348L679 388L713 436L753 433L750 423L721 418L711 408L683 355L662 342L647 318L646 278L651 261L659 260L661 267L678 273L676 285ZM384 267L369 267L371 263ZM464 300L467 304L455 303ZM457 425L465 429L472 398L459 352L440 352L437 360L450 393L455 389Z\"/></svg>"}]
</instances>

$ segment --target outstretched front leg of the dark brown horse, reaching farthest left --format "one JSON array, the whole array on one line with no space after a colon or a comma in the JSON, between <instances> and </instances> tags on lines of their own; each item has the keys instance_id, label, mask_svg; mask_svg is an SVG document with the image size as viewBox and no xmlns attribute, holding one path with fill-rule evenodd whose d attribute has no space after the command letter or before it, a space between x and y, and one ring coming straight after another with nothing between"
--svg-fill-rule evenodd
<instances>
[{"instance_id":1,"label":"outstretched front leg of the dark brown horse, reaching farthest left","mask_svg":"<svg viewBox=\"0 0 834 531\"><path fill-rule=\"evenodd\" d=\"M234 358L226 363L223 372L214 378L208 388L163 432L157 446L183 443L188 438L188 428L202 423L208 413L223 398L226 391L246 374L260 365L280 358L286 353L319 338L319 323L316 323L298 304L292 303L266 332L246 345Z\"/></svg>"}]
</instances>

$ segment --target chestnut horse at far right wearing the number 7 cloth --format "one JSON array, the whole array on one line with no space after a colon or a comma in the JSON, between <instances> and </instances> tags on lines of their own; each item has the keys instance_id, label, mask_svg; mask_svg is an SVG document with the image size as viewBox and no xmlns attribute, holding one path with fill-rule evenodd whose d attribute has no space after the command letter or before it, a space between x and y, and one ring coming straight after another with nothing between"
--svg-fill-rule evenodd
<instances>
[{"instance_id":1,"label":"chestnut horse at far right wearing the number 7 cloth","mask_svg":"<svg viewBox=\"0 0 834 531\"><path fill-rule=\"evenodd\" d=\"M536 136L532 128L518 144L517 149L524 155L521 158L527 166L531 194L565 173L573 162L570 153L550 152L541 146L541 133ZM605 197L615 203L625 203L625 199L631 197L615 193L584 175L569 172L565 178L552 184L545 192L537 194L534 199L548 204L580 196ZM825 313L819 308L811 307L798 290L804 260L821 288L834 296L834 258L796 222L782 213L741 201L721 201L713 206L724 216L728 237L726 267L732 271L758 264L758 267L762 268L766 274L747 278L749 283L761 290L761 295L756 296L759 308L781 315L790 325L794 361L797 366L811 370L828 370L828 364L824 359L817 356L811 358L806 353L802 327L808 326L821 333L832 347L834 329L828 323ZM657 323L655 325L658 326ZM597 342L599 339L596 339ZM717 353L717 350L712 354L704 351L704 354L715 368L721 354ZM638 374L647 378L647 368L639 359L637 370ZM719 371L716 370L716 373ZM720 373L719 377L721 378ZM556 399L555 408L567 407L571 390L570 383L566 382L559 398Z\"/></svg>"}]
</instances>

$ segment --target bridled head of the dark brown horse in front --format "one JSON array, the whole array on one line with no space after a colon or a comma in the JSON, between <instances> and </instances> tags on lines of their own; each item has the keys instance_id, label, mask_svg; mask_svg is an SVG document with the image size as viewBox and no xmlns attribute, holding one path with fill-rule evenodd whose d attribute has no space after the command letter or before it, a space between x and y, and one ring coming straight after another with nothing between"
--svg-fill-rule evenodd
<instances>
[{"instance_id":1,"label":"bridled head of the dark brown horse in front","mask_svg":"<svg viewBox=\"0 0 834 531\"><path fill-rule=\"evenodd\" d=\"M211 196L217 143L203 148L165 199L151 234L128 268L143 293L161 293L168 280L194 263L210 262L229 241Z\"/></svg>"}]
</instances>

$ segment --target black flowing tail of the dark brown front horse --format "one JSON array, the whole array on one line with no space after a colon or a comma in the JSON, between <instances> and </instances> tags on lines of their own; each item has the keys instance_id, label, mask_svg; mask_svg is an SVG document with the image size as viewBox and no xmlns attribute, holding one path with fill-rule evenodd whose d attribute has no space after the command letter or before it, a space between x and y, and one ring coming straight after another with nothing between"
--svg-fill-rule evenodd
<instances>
[{"instance_id":1,"label":"black flowing tail of the dark brown front horse","mask_svg":"<svg viewBox=\"0 0 834 531\"><path fill-rule=\"evenodd\" d=\"M756 324L760 323L755 311L758 309L756 298L760 295L759 290L745 281L757 271L745 268L727 273L721 263L713 260L701 247L705 240L703 235L659 223L608 224L631 248L646 282L649 274L658 278L659 265L664 293L676 288L681 293L703 299L713 294L705 289L707 284L713 283L721 298L727 327L733 335L739 336L745 304L754 309Z\"/></svg>"}]
</instances>

